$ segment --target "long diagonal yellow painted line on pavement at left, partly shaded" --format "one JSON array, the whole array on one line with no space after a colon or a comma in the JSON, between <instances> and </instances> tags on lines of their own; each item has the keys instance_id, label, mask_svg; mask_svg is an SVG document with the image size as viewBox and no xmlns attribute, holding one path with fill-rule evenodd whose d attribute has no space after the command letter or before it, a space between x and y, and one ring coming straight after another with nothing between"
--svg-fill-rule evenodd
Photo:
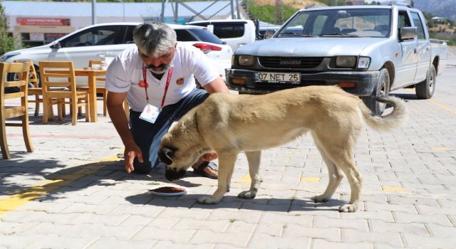
<instances>
[{"instance_id":1,"label":"long diagonal yellow painted line on pavement at left, partly shaded","mask_svg":"<svg viewBox=\"0 0 456 249\"><path fill-rule=\"evenodd\" d=\"M32 201L36 198L40 198L41 196L46 196L51 191L56 189L60 189L63 186L68 186L72 181L76 181L84 176L88 176L93 174L95 171L102 169L105 166L110 164L104 163L105 161L120 161L117 156L108 157L102 159L100 162L95 164L88 164L88 169L80 169L77 171L72 172L71 174L66 174L62 176L58 176L56 179L45 181L41 184L36 186L32 186L30 189L22 191L19 194L14 194L4 199L0 199L0 215L14 210L19 206L24 205L28 201Z\"/></svg>"}]
</instances>

